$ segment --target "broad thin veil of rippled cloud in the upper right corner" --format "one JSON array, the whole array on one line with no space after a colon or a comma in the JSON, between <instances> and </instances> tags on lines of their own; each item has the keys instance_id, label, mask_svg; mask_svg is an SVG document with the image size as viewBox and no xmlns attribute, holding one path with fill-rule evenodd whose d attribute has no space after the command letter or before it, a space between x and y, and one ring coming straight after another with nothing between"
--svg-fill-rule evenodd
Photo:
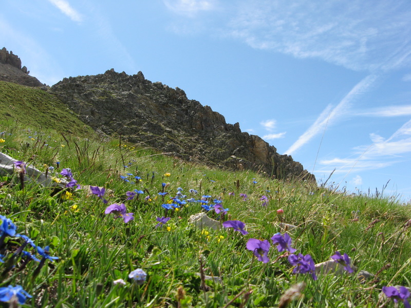
<instances>
[{"instance_id":1,"label":"broad thin veil of rippled cloud in the upper right corner","mask_svg":"<svg viewBox=\"0 0 411 308\"><path fill-rule=\"evenodd\" d=\"M253 48L320 58L353 70L411 64L407 0L244 0L236 10L230 33Z\"/></svg>"}]
</instances>

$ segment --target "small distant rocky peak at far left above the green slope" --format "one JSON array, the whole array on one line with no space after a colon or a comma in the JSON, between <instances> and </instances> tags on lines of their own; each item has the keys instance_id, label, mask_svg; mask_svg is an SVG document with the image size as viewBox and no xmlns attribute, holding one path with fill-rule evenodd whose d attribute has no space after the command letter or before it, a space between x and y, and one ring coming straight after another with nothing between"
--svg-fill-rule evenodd
<instances>
[{"instance_id":1,"label":"small distant rocky peak at far left above the green slope","mask_svg":"<svg viewBox=\"0 0 411 308\"><path fill-rule=\"evenodd\" d=\"M22 67L20 58L8 52L6 47L0 49L0 80L13 82L29 87L44 86L37 78L29 75L27 67Z\"/></svg>"}]
</instances>

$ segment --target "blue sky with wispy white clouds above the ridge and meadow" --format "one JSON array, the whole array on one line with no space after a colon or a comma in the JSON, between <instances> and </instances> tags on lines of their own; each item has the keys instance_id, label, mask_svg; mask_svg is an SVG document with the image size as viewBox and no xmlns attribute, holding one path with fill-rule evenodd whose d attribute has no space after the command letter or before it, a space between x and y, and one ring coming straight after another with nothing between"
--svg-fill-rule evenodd
<instances>
[{"instance_id":1,"label":"blue sky with wispy white clouds above the ridge and meadow","mask_svg":"<svg viewBox=\"0 0 411 308\"><path fill-rule=\"evenodd\" d=\"M142 71L319 184L411 200L409 0L3 0L0 44L50 86Z\"/></svg>"}]
</instances>

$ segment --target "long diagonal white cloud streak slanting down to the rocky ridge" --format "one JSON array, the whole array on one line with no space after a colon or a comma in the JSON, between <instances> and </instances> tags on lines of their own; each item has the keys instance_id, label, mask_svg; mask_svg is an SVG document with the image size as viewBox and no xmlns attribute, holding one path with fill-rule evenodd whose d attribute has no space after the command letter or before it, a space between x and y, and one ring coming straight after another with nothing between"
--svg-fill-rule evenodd
<instances>
[{"instance_id":1,"label":"long diagonal white cloud streak slanting down to the rocky ridge","mask_svg":"<svg viewBox=\"0 0 411 308\"><path fill-rule=\"evenodd\" d=\"M368 91L377 80L377 75L368 75L341 100L341 102L332 108L328 105L315 122L294 142L286 153L293 155L303 145L308 143L314 136L324 131L327 126L334 124L339 118L348 113L351 103L358 99L359 95Z\"/></svg>"}]
</instances>

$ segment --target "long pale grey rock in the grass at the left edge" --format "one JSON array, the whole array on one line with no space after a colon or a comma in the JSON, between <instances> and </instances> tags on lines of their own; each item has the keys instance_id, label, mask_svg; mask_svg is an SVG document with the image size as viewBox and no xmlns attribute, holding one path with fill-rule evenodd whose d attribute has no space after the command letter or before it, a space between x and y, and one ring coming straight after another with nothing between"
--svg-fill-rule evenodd
<instances>
[{"instance_id":1,"label":"long pale grey rock in the grass at the left edge","mask_svg":"<svg viewBox=\"0 0 411 308\"><path fill-rule=\"evenodd\" d=\"M14 173L14 162L17 160L8 156L5 153L0 152L0 175L12 175ZM34 168L31 165L26 165L26 175L24 176L24 181L34 181L39 185L45 187L65 187L68 183L66 179L59 179L58 182L53 180L53 177L48 174L47 177L39 169Z\"/></svg>"}]
</instances>

